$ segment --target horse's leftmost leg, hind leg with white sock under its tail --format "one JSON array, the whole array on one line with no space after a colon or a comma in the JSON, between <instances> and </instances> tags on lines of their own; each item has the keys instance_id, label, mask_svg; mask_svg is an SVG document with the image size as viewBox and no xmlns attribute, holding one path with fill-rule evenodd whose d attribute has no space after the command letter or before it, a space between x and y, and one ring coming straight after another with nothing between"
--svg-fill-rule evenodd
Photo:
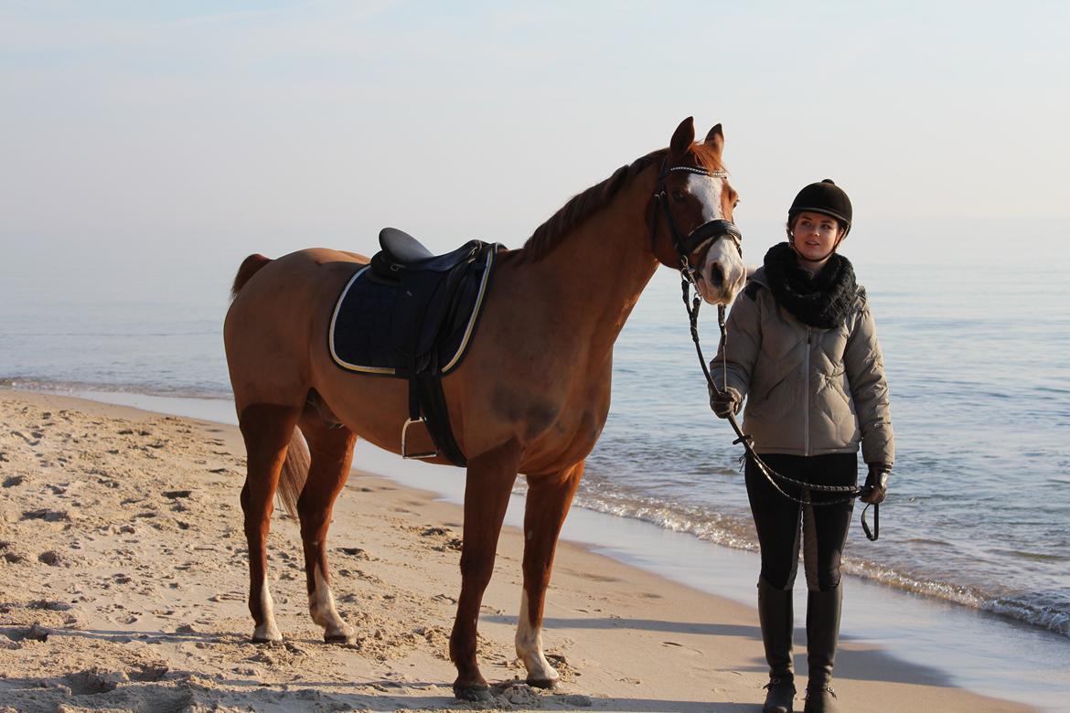
<instances>
[{"instance_id":1,"label":"horse's leftmost leg, hind leg with white sock under its tail","mask_svg":"<svg viewBox=\"0 0 1070 713\"><path fill-rule=\"evenodd\" d=\"M282 638L275 624L275 607L268 588L268 532L274 510L272 499L299 413L300 409L289 406L253 404L242 409L238 419L247 453L242 510L249 548L249 613L256 623L254 641Z\"/></svg>"}]
</instances>

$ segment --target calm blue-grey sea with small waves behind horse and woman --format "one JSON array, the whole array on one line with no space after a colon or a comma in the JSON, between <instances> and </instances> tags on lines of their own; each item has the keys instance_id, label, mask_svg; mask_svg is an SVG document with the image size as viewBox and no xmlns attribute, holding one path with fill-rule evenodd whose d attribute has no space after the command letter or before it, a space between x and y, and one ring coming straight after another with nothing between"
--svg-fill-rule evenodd
<instances>
[{"instance_id":1,"label":"calm blue-grey sea with small waves behind horse and woman","mask_svg":"<svg viewBox=\"0 0 1070 713\"><path fill-rule=\"evenodd\" d=\"M1066 274L1063 264L859 267L884 348L897 459L881 539L853 527L845 568L1065 637L1070 651ZM141 404L214 399L232 413L226 284L218 292L4 299L0 385L127 392ZM708 359L713 308L700 329ZM678 278L659 270L617 341L610 417L576 505L755 551L733 437L709 412Z\"/></svg>"}]
</instances>

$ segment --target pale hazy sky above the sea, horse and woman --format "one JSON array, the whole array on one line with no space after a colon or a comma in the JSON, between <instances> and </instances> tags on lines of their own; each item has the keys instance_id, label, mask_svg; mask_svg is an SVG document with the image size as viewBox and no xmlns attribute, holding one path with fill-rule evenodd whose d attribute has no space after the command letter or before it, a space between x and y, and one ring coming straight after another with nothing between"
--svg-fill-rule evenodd
<instances>
[{"instance_id":1,"label":"pale hazy sky above the sea, horse and woman","mask_svg":"<svg viewBox=\"0 0 1070 713\"><path fill-rule=\"evenodd\" d=\"M752 262L824 177L849 254L1067 258L1068 37L1039 1L0 0L0 296L225 299L387 224L519 246L688 115Z\"/></svg>"}]
</instances>

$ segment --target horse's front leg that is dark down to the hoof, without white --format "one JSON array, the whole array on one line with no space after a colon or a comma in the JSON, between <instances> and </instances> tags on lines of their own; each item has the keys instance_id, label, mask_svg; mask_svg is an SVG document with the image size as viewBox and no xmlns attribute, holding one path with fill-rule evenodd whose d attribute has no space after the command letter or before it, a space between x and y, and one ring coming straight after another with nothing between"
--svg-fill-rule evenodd
<instances>
[{"instance_id":1,"label":"horse's front leg that is dark down to the hoof, without white","mask_svg":"<svg viewBox=\"0 0 1070 713\"><path fill-rule=\"evenodd\" d=\"M475 658L476 629L483 593L494 572L498 537L519 463L520 448L511 440L469 461L464 485L461 594L449 636L449 657L457 666L454 695L464 700L490 698L490 686Z\"/></svg>"}]
</instances>

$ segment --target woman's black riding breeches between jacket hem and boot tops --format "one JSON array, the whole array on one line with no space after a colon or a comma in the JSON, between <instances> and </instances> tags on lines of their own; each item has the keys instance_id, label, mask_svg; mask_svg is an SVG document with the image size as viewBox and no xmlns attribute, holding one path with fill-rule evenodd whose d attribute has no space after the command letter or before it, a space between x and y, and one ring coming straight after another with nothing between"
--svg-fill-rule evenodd
<instances>
[{"instance_id":1,"label":"woman's black riding breeches between jacket hem and boot tops","mask_svg":"<svg viewBox=\"0 0 1070 713\"><path fill-rule=\"evenodd\" d=\"M763 453L762 460L780 475L815 485L856 485L858 455L784 455ZM795 584L799 546L806 568L807 587L828 591L840 585L840 560L851 526L854 499L838 505L817 505L843 499L844 493L822 493L778 481L799 505L778 493L750 458L747 459L747 496L762 547L762 578L778 589ZM811 505L811 502L813 505Z\"/></svg>"}]
</instances>

